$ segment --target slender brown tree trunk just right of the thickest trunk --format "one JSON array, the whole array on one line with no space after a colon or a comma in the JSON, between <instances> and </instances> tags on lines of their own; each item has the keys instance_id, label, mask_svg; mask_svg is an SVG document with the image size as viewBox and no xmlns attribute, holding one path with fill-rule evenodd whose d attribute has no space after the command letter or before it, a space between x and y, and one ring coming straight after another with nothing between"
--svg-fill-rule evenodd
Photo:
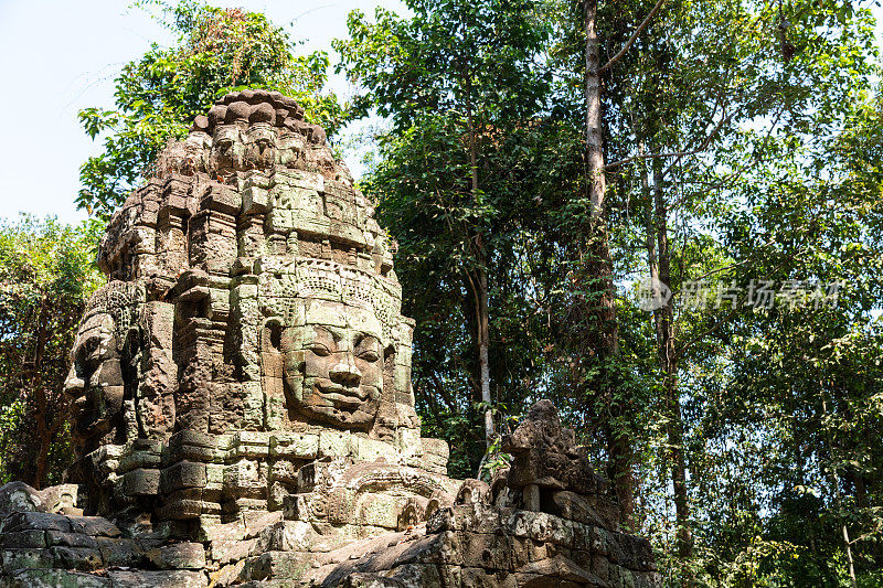
<instances>
[{"instance_id":1,"label":"slender brown tree trunk just right of the thickest trunk","mask_svg":"<svg viewBox=\"0 0 883 588\"><path fill-rule=\"evenodd\" d=\"M653 229L658 247L659 281L671 290L671 256L668 237L668 205L666 204L662 168L653 164ZM668 441L671 458L671 481L674 488L674 516L678 523L678 555L690 557L693 553L690 530L690 503L687 493L687 459L683 447L683 419L678 392L678 353L674 346L674 298L661 298L656 310L657 354L662 368L662 397L666 403Z\"/></svg>"}]
</instances>

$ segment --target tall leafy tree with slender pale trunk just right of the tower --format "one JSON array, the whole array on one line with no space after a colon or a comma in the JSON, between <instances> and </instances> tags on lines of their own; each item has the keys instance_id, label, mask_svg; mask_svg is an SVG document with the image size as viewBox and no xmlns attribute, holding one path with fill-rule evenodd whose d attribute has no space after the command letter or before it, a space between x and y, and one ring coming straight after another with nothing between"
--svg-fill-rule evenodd
<instances>
[{"instance_id":1,"label":"tall leafy tree with slender pale trunk just right of the tower","mask_svg":"<svg viewBox=\"0 0 883 588\"><path fill-rule=\"evenodd\" d=\"M376 109L389 117L390 135L404 137L384 143L387 161L404 154L396 154L398 149L423 158L419 175L408 177L407 184L381 169L366 185L376 186L382 214L397 215L389 224L401 233L406 258L449 247L443 255L454 261L446 270L459 276L453 287L467 295L461 306L490 447L496 437L490 299L499 286L490 276L498 274L494 252L510 237L506 222L512 220L506 211L512 193L500 188L506 173L500 159L511 146L508 133L532 125L542 107L545 76L533 65L546 32L528 0L414 0L407 7L412 18L377 10L374 23L353 12L350 39L334 46L350 78L364 89L355 110ZM439 159L429 149L448 157ZM384 193L387 189L398 192ZM402 205L409 210L397 210ZM434 223L438 233L421 227L415 238L417 211L439 221ZM429 240L430 234L440 238Z\"/></svg>"}]
</instances>

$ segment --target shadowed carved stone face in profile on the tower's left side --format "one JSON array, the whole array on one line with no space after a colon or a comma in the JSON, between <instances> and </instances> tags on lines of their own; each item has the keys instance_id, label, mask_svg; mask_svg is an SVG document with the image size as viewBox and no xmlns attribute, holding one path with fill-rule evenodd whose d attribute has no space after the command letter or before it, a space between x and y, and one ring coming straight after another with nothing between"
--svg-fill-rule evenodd
<instances>
[{"instance_id":1,"label":"shadowed carved stone face in profile on the tower's left side","mask_svg":"<svg viewBox=\"0 0 883 588\"><path fill-rule=\"evenodd\" d=\"M93 314L79 325L64 392L73 400L77 439L86 441L114 428L123 410L124 383L110 314Z\"/></svg>"}]
</instances>

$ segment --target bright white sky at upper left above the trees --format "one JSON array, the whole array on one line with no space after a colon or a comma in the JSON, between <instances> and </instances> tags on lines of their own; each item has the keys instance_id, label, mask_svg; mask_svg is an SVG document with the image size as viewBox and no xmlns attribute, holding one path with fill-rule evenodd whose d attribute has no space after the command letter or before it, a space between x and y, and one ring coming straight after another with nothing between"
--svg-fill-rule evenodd
<instances>
[{"instance_id":1,"label":"bright white sky at upper left above the trees","mask_svg":"<svg viewBox=\"0 0 883 588\"><path fill-rule=\"evenodd\" d=\"M384 6L405 13L397 0L216 0L266 13L304 51L331 52L331 40L347 34L354 8L373 13ZM86 217L74 197L79 165L100 152L79 126L77 111L113 107L114 78L151 42L168 45L169 33L128 0L0 0L0 217L19 211L56 215L64 222ZM347 96L340 77L331 88ZM354 162L353 162L354 163Z\"/></svg>"}]
</instances>

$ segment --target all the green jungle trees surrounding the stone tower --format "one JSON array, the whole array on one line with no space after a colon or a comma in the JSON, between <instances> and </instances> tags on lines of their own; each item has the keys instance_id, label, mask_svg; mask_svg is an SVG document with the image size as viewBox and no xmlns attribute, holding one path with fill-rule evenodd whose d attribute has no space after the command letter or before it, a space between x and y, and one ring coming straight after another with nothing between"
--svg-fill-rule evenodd
<instances>
[{"instance_id":1,"label":"all the green jungle trees surrounding the stone tower","mask_svg":"<svg viewBox=\"0 0 883 588\"><path fill-rule=\"evenodd\" d=\"M360 188L400 246L418 411L451 475L504 466L500 432L547 397L667 585L883 582L868 3L406 4L352 12L336 60L259 13L161 4L178 43L125 66L116 109L79 115L104 150L77 204L106 220L231 88L292 95L338 149L372 119ZM60 378L98 234L0 227L3 480L66 464Z\"/></svg>"}]
</instances>

